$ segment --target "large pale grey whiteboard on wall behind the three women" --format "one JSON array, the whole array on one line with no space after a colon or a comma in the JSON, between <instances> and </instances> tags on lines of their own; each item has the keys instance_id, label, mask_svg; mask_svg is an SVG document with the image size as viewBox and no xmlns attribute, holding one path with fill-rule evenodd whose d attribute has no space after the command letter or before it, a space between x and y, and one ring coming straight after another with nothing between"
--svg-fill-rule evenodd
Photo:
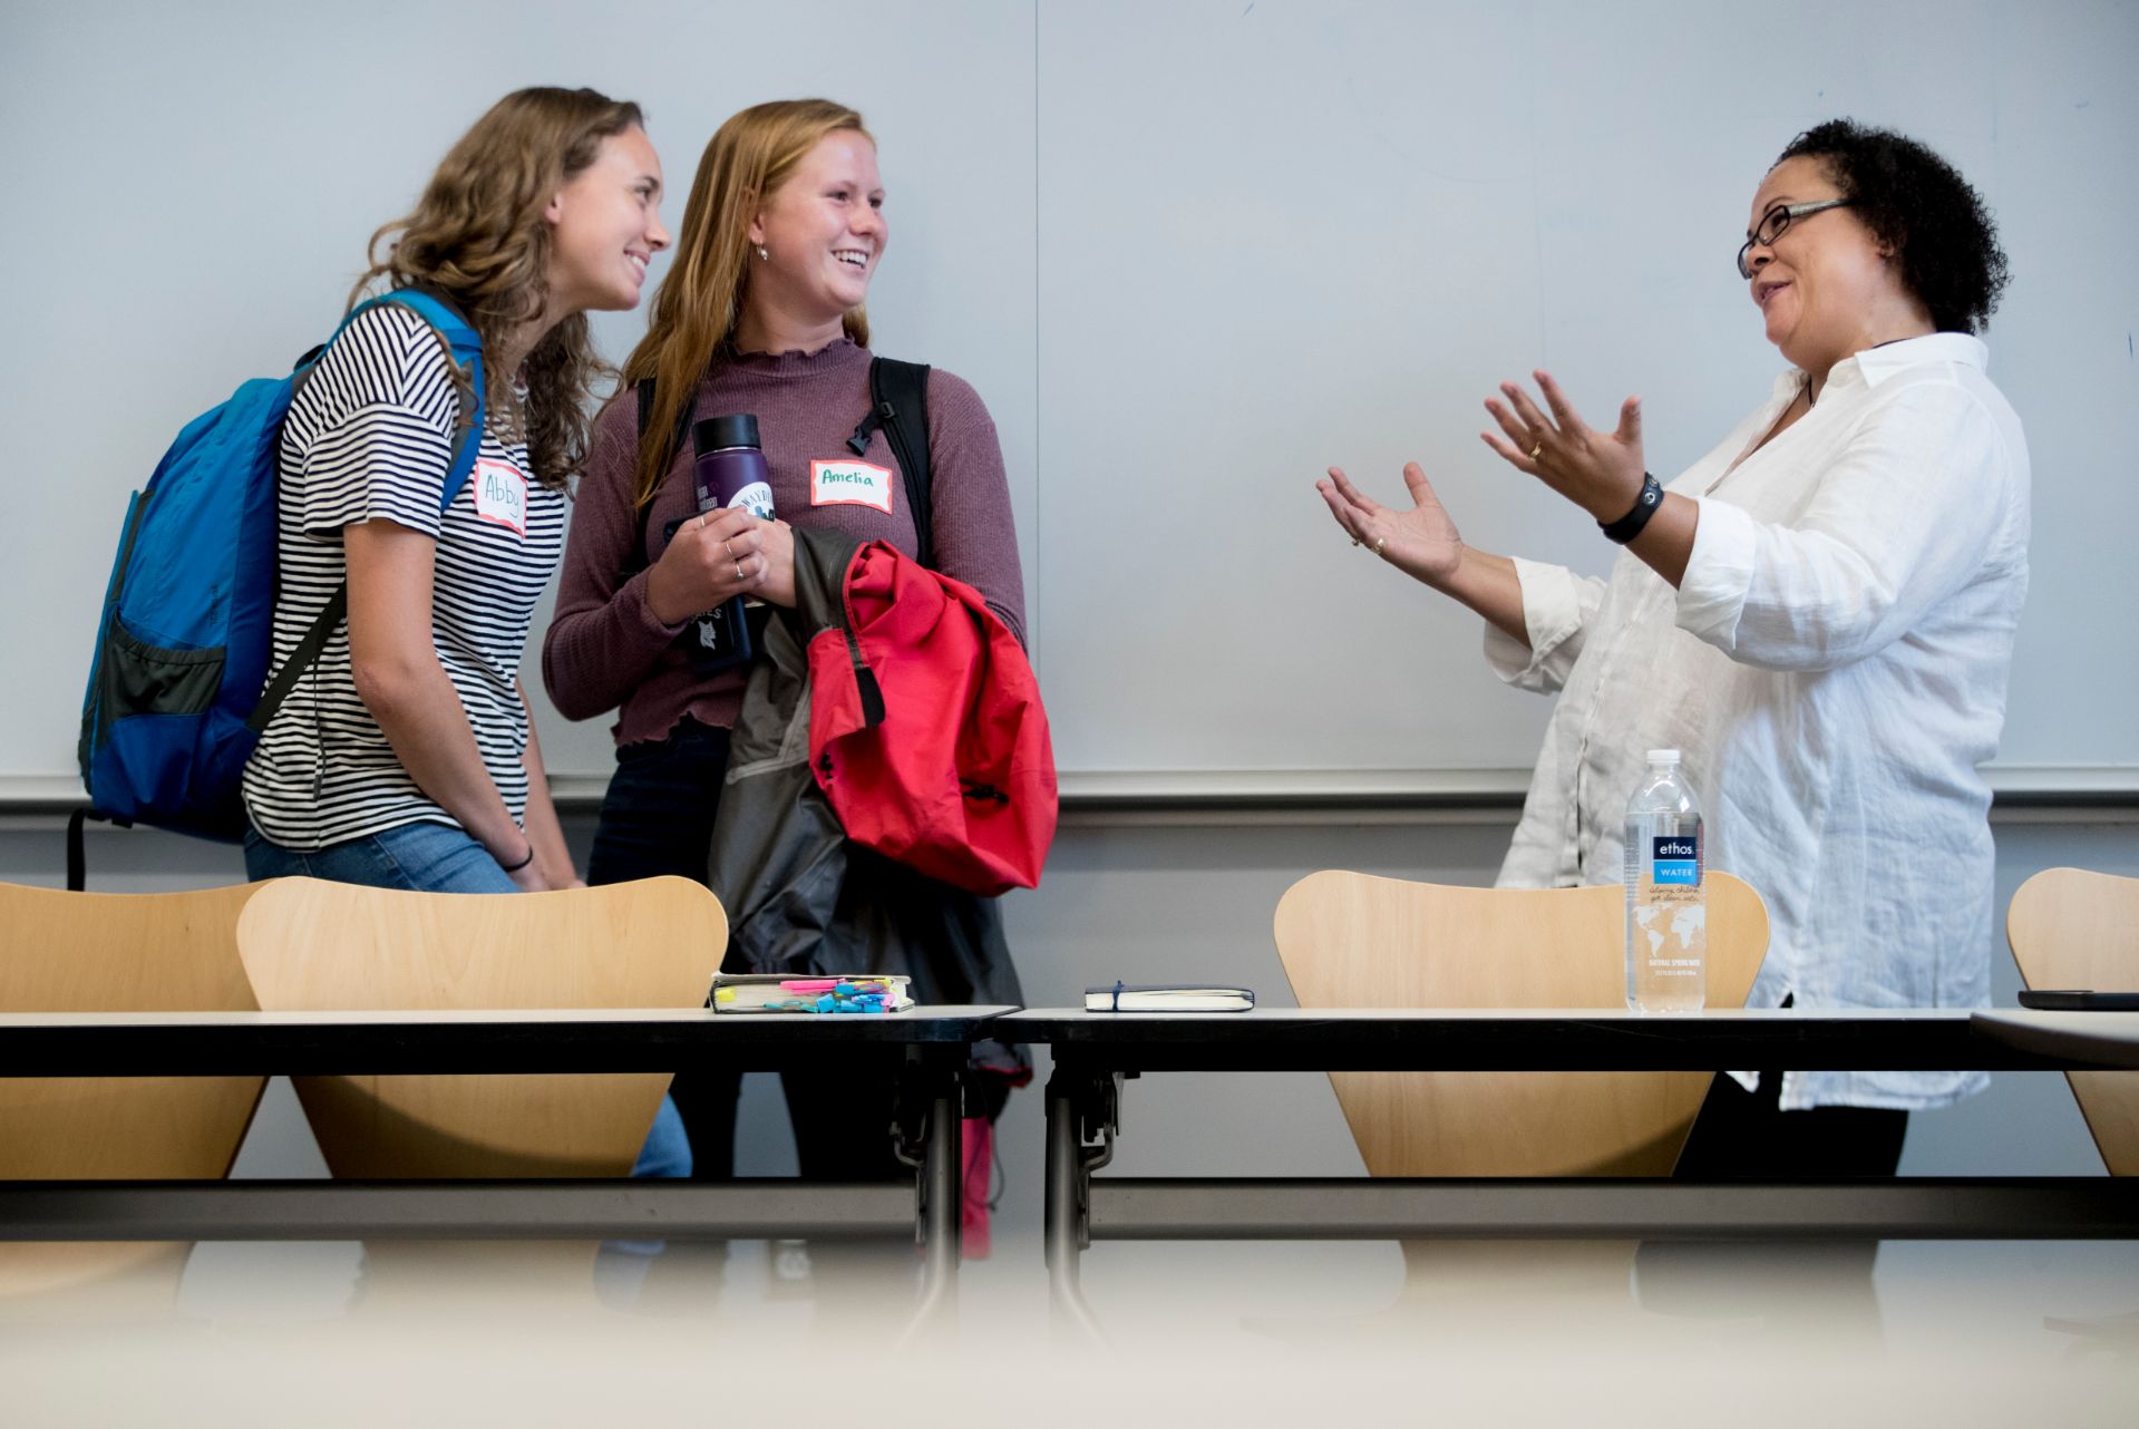
<instances>
[{"instance_id":1,"label":"large pale grey whiteboard on wall behind the three women","mask_svg":"<svg viewBox=\"0 0 2139 1429\"><path fill-rule=\"evenodd\" d=\"M1352 550L1313 479L1339 462L1395 498L1416 458L1476 546L1602 571L1587 518L1478 443L1480 400L1536 366L1596 419L1638 391L1658 475L1692 462L1780 370L1728 265L1773 154L1837 113L1914 133L1983 188L2015 272L1991 377L2028 424L2036 537L1998 783L2139 789L2139 6L248 0L0 24L0 798L75 787L126 492L332 327L368 233L524 83L637 98L672 227L734 109L868 116L877 347L986 398L1065 789L1132 796L1521 787L1549 704L1491 678L1476 618ZM640 325L597 340L622 357ZM597 789L607 721L550 712L533 646L526 676L552 772Z\"/></svg>"}]
</instances>

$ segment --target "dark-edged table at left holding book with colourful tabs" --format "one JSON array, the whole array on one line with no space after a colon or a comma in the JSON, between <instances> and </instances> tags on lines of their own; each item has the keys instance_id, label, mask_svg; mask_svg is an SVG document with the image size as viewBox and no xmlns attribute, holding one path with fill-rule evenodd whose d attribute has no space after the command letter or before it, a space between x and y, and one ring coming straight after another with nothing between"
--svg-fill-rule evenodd
<instances>
[{"instance_id":1,"label":"dark-edged table at left holding book with colourful tabs","mask_svg":"<svg viewBox=\"0 0 2139 1429\"><path fill-rule=\"evenodd\" d=\"M332 1076L824 1067L905 1048L915 1179L13 1181L0 1241L851 1239L913 1234L922 1316L958 1284L971 1044L1012 1008L886 1016L704 1010L15 1012L0 1076ZM866 1065L877 1065L875 1061Z\"/></svg>"}]
</instances>

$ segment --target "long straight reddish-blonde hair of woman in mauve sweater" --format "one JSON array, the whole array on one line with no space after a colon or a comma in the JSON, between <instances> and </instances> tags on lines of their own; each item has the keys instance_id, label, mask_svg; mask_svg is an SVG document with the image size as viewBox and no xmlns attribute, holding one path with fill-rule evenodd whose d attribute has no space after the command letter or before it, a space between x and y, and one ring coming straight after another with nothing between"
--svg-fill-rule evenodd
<instances>
[{"instance_id":1,"label":"long straight reddish-blonde hair of woman in mauve sweater","mask_svg":"<svg viewBox=\"0 0 2139 1429\"><path fill-rule=\"evenodd\" d=\"M633 383L655 379L655 406L642 424L633 462L637 503L652 498L676 460L676 421L697 400L697 383L734 357L736 323L751 291L749 227L813 148L841 130L875 139L862 116L828 98L776 98L736 113L706 143L682 210L682 231L670 274L655 293L646 336L625 359L622 398ZM847 336L868 344L868 314L856 306L841 319Z\"/></svg>"}]
</instances>

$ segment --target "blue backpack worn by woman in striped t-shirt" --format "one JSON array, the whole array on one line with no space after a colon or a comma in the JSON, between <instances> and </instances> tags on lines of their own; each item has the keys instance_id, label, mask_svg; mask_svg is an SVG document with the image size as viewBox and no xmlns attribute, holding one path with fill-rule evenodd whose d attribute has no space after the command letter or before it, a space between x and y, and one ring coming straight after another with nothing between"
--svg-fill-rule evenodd
<instances>
[{"instance_id":1,"label":"blue backpack worn by woman in striped t-shirt","mask_svg":"<svg viewBox=\"0 0 2139 1429\"><path fill-rule=\"evenodd\" d=\"M471 379L438 509L453 505L481 445L483 349L475 329L430 293L400 289L376 304L417 312ZM178 434L126 507L120 554L96 623L81 697L81 783L90 815L154 824L235 843L246 819L240 781L261 732L349 614L344 582L276 678L276 449L291 398L319 357L289 377L259 377Z\"/></svg>"}]
</instances>

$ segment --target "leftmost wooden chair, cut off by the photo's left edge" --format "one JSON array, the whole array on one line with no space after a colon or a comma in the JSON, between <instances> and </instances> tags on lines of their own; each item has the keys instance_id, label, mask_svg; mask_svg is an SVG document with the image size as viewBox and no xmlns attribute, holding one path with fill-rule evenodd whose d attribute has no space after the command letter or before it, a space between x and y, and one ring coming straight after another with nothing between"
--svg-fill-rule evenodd
<instances>
[{"instance_id":1,"label":"leftmost wooden chair, cut off by the photo's left edge","mask_svg":"<svg viewBox=\"0 0 2139 1429\"><path fill-rule=\"evenodd\" d=\"M0 1010L250 1012L237 916L259 883L90 894L0 883ZM0 1179L203 1181L237 1159L261 1076L0 1078ZM0 1245L0 1296L122 1273L169 1305L186 1243Z\"/></svg>"}]
</instances>

